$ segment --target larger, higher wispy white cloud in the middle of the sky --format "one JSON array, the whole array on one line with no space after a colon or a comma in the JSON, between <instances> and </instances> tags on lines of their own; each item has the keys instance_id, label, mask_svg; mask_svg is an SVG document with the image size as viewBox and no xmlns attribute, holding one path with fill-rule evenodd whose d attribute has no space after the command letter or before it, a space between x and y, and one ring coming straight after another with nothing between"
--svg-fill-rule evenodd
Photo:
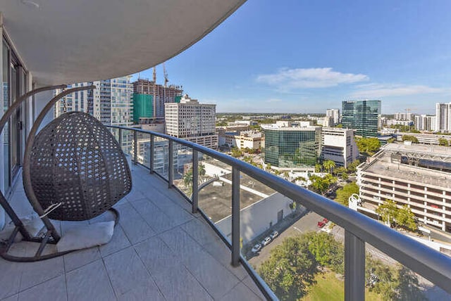
<instances>
[{"instance_id":1,"label":"larger, higher wispy white cloud in the middle of the sky","mask_svg":"<svg viewBox=\"0 0 451 301\"><path fill-rule=\"evenodd\" d=\"M282 91L335 87L339 84L353 84L367 80L369 77L366 75L342 73L332 68L282 68L276 73L257 77L257 82L277 87Z\"/></svg>"}]
</instances>

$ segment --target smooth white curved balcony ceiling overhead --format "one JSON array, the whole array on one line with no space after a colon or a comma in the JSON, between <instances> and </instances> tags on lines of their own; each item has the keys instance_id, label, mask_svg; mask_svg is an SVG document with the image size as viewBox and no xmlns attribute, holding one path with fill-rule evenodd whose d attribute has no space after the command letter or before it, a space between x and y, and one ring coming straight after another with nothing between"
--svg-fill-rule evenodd
<instances>
[{"instance_id":1,"label":"smooth white curved balcony ceiling overhead","mask_svg":"<svg viewBox=\"0 0 451 301\"><path fill-rule=\"evenodd\" d=\"M204 37L244 2L0 0L0 11L34 79L70 84L158 65Z\"/></svg>"}]
</instances>

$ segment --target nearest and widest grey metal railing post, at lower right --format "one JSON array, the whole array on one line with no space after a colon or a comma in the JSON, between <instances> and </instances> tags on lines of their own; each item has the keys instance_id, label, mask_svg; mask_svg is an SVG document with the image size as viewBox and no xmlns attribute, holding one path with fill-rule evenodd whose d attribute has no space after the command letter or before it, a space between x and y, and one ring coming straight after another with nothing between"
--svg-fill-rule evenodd
<instances>
[{"instance_id":1,"label":"nearest and widest grey metal railing post, at lower right","mask_svg":"<svg viewBox=\"0 0 451 301\"><path fill-rule=\"evenodd\" d=\"M365 300L365 242L345 230L345 301Z\"/></svg>"}]
</instances>

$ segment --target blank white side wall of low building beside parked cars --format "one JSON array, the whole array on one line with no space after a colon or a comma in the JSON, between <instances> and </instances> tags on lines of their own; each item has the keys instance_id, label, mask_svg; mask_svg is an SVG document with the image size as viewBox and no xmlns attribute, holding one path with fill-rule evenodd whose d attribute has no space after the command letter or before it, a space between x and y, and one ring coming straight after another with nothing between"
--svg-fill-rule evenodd
<instances>
[{"instance_id":1,"label":"blank white side wall of low building beside parked cars","mask_svg":"<svg viewBox=\"0 0 451 301\"><path fill-rule=\"evenodd\" d=\"M268 198L259 200L240 211L240 236L242 242L249 243L264 231L277 224L277 214L283 210L283 218L292 213L290 209L292 200L280 193L274 193ZM232 216L216 222L216 226L229 239L232 237Z\"/></svg>"}]
</instances>

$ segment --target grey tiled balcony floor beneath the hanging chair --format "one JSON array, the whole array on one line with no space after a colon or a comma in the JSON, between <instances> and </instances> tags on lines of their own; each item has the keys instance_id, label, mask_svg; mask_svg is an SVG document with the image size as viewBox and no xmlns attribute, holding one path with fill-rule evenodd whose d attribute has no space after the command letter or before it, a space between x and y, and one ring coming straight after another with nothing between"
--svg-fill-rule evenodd
<instances>
[{"instance_id":1,"label":"grey tiled balcony floor beneath the hanging chair","mask_svg":"<svg viewBox=\"0 0 451 301\"><path fill-rule=\"evenodd\" d=\"M42 262L0 259L0 300L264 300L200 214L165 181L133 169L110 243ZM20 182L10 200L20 216L31 212L24 200ZM70 223L60 226L64 233Z\"/></svg>"}]
</instances>

